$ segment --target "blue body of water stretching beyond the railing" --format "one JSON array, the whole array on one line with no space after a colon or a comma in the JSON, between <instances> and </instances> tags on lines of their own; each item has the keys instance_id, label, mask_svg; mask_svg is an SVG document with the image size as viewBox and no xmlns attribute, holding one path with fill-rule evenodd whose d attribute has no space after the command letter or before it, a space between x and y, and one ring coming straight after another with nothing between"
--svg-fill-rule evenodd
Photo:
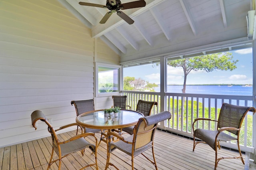
<instances>
[{"instance_id":1,"label":"blue body of water stretching beyond the railing","mask_svg":"<svg viewBox=\"0 0 256 170\"><path fill-rule=\"evenodd\" d=\"M167 92L182 93L183 86L167 86ZM156 92L160 92L160 86L154 88ZM252 96L252 86L202 86L194 85L186 86L186 93L191 94L217 94L217 95L238 95Z\"/></svg>"}]
</instances>

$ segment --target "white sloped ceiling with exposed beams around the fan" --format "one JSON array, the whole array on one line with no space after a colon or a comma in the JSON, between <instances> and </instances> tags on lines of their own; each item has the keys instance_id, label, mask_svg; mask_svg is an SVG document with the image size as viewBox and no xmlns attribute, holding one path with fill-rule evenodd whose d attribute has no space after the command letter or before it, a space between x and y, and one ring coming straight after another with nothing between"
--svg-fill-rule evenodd
<instances>
[{"instance_id":1,"label":"white sloped ceiling with exposed beams around the fan","mask_svg":"<svg viewBox=\"0 0 256 170\"><path fill-rule=\"evenodd\" d=\"M252 0L145 0L146 6L121 10L134 20L129 25L114 13L100 24L106 0L58 0L121 57L121 64L157 58L220 42L247 40L246 15ZM122 3L134 0L121 0ZM75 10L74 10L75 9Z\"/></svg>"}]
</instances>

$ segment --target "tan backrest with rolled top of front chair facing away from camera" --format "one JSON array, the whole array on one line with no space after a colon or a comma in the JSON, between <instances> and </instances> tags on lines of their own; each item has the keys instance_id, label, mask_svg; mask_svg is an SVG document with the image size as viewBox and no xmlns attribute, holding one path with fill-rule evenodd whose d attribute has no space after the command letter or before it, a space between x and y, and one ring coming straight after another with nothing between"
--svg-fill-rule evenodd
<instances>
[{"instance_id":1,"label":"tan backrest with rolled top of front chair facing away from camera","mask_svg":"<svg viewBox=\"0 0 256 170\"><path fill-rule=\"evenodd\" d=\"M140 118L134 129L134 151L151 145L154 141L154 134L158 123L171 117L172 115L169 111L163 111L155 115Z\"/></svg>"}]
</instances>

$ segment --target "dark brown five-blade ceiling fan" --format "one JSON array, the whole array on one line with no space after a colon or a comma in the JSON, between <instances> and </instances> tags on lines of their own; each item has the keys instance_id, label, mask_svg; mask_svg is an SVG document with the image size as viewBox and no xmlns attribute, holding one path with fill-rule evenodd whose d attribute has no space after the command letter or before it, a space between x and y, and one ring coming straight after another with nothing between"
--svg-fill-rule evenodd
<instances>
[{"instance_id":1,"label":"dark brown five-blade ceiling fan","mask_svg":"<svg viewBox=\"0 0 256 170\"><path fill-rule=\"evenodd\" d=\"M108 8L110 12L107 12L105 16L102 18L100 23L106 23L108 18L116 12L118 16L120 16L124 21L126 21L129 24L134 23L134 20L124 14L124 12L121 12L119 10L126 10L126 9L131 9L131 8L140 8L146 6L146 2L144 0L138 0L134 2L127 2L122 4L120 0L107 0L106 6L105 5L100 5L100 4L92 4L92 3L87 3L87 2L79 2L80 5L84 6L94 6L94 7L99 7L99 8Z\"/></svg>"}]
</instances>

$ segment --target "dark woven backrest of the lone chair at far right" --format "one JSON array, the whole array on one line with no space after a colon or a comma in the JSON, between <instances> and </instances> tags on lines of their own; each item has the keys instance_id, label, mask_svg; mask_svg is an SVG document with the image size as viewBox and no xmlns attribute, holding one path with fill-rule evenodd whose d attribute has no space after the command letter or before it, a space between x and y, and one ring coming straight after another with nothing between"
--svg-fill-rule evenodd
<instances>
[{"instance_id":1,"label":"dark woven backrest of the lone chair at far right","mask_svg":"<svg viewBox=\"0 0 256 170\"><path fill-rule=\"evenodd\" d=\"M242 126L242 122L244 117L248 113L248 111L252 111L255 113L254 107L246 107L246 106L236 106L232 104L223 103L220 108L220 115L218 118L218 128L222 127L235 127L240 129ZM239 134L239 131L229 131L235 135Z\"/></svg>"}]
</instances>

